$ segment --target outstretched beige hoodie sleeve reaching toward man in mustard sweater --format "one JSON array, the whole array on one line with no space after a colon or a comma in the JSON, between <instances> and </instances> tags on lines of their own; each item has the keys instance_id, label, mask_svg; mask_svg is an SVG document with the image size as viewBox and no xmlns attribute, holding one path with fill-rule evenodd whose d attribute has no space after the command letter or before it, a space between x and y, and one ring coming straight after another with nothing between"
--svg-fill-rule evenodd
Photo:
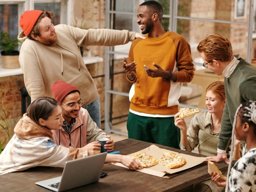
<instances>
[{"instance_id":1,"label":"outstretched beige hoodie sleeve reaching toward man in mustard sweater","mask_svg":"<svg viewBox=\"0 0 256 192\"><path fill-rule=\"evenodd\" d=\"M135 39L135 32L113 29L80 29L63 25L78 46L117 46Z\"/></svg>"}]
</instances>

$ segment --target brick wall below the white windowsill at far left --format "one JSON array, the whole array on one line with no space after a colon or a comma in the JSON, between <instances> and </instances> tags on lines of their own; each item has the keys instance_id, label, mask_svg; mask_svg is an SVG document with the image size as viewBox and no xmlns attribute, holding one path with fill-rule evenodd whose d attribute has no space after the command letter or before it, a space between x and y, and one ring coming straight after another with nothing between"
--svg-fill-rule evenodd
<instances>
[{"instance_id":1,"label":"brick wall below the white windowsill at far left","mask_svg":"<svg viewBox=\"0 0 256 192\"><path fill-rule=\"evenodd\" d=\"M23 75L0 78L0 96L3 98L4 110L9 123L10 138L13 136L14 127L22 115L21 94L19 91L21 87L24 87ZM2 106L2 100L0 100L0 105ZM1 109L0 116L4 116ZM0 120L0 124L5 125L2 120ZM2 148L4 148L7 141L7 134L2 128L0 128L0 141L2 143Z\"/></svg>"}]
</instances>

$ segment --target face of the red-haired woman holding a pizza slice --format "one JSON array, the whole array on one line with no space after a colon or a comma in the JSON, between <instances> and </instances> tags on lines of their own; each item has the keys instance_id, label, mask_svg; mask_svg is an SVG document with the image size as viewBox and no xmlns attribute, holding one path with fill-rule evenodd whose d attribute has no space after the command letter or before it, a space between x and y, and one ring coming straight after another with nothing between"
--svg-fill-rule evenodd
<instances>
[{"instance_id":1,"label":"face of the red-haired woman holding a pizza slice","mask_svg":"<svg viewBox=\"0 0 256 192\"><path fill-rule=\"evenodd\" d=\"M209 90L206 92L206 105L209 113L220 113L223 112L225 102Z\"/></svg>"}]
</instances>

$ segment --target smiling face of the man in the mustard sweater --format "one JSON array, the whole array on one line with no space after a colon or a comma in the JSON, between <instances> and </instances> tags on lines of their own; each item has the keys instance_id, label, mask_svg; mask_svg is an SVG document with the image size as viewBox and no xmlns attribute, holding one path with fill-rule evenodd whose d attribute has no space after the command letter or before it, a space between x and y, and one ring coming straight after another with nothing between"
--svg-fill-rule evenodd
<instances>
[{"instance_id":1,"label":"smiling face of the man in the mustard sweater","mask_svg":"<svg viewBox=\"0 0 256 192\"><path fill-rule=\"evenodd\" d=\"M146 5L139 6L137 10L137 23L142 30L142 34L149 33L154 27L154 23L151 19L151 15L148 13L146 9Z\"/></svg>"}]
</instances>

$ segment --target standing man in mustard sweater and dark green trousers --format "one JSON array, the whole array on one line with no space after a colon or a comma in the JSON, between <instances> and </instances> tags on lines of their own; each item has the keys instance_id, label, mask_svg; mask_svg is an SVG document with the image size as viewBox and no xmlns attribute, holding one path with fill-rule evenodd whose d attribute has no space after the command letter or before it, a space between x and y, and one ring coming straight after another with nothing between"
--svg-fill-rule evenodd
<instances>
[{"instance_id":1,"label":"standing man in mustard sweater and dark green trousers","mask_svg":"<svg viewBox=\"0 0 256 192\"><path fill-rule=\"evenodd\" d=\"M137 10L146 39L133 41L123 68L133 83L129 98L128 137L179 149L180 130L174 125L182 82L194 75L190 45L162 27L163 8L146 1Z\"/></svg>"}]
</instances>

